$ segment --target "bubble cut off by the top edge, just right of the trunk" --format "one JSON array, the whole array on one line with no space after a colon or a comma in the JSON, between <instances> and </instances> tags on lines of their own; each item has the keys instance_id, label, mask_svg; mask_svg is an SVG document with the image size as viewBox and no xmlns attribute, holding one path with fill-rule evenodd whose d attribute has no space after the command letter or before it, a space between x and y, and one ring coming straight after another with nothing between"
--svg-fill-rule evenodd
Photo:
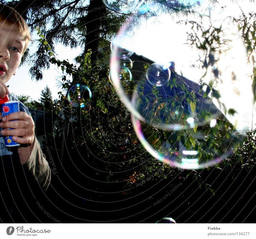
<instances>
[{"instance_id":1,"label":"bubble cut off by the top edge, just right of the trunk","mask_svg":"<svg viewBox=\"0 0 256 239\"><path fill-rule=\"evenodd\" d=\"M143 0L102 0L107 8L118 13L129 14L144 2Z\"/></svg>"}]
</instances>

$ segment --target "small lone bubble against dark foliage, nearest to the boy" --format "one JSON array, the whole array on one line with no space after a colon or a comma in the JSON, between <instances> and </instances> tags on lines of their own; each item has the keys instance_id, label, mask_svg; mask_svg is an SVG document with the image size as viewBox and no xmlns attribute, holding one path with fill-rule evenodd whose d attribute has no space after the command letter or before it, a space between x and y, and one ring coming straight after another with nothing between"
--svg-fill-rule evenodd
<instances>
[{"instance_id":1,"label":"small lone bubble against dark foliage, nearest to the boy","mask_svg":"<svg viewBox=\"0 0 256 239\"><path fill-rule=\"evenodd\" d=\"M84 108L92 98L91 90L82 84L76 84L68 90L68 101L76 108Z\"/></svg>"}]
</instances>

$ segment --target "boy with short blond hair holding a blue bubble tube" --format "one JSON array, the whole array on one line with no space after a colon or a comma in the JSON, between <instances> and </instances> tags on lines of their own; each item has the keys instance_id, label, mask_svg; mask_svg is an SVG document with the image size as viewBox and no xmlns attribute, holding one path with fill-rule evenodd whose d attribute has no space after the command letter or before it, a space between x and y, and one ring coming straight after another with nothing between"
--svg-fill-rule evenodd
<instances>
[{"instance_id":1,"label":"boy with short blond hair holding a blue bubble tube","mask_svg":"<svg viewBox=\"0 0 256 239\"><path fill-rule=\"evenodd\" d=\"M0 97L9 94L6 83L15 75L31 35L28 25L14 9L0 4ZM10 100L15 100L8 95ZM13 121L14 119L18 121ZM46 190L51 170L35 137L35 126L28 108L20 102L20 112L0 115L0 221L26 220L22 208L39 186ZM12 128L13 130L10 130ZM20 146L8 148L3 136L12 136ZM40 190L38 190L40 191ZM34 200L36 201L35 195ZM18 199L18 200L17 200ZM23 203L22 203L23 202ZM31 210L31 209L30 209ZM33 213L33 212L32 212ZM19 215L19 216L17 216ZM20 221L14 221L20 222Z\"/></svg>"}]
</instances>

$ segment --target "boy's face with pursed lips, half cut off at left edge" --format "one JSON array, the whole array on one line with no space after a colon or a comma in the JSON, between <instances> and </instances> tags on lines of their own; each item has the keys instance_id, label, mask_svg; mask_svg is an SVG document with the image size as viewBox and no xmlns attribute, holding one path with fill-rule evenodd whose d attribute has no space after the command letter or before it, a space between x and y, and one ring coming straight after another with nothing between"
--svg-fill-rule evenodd
<instances>
[{"instance_id":1,"label":"boy's face with pursed lips, half cut off at left edge","mask_svg":"<svg viewBox=\"0 0 256 239\"><path fill-rule=\"evenodd\" d=\"M0 21L0 80L8 82L20 65L26 41L17 26Z\"/></svg>"}]
</instances>

